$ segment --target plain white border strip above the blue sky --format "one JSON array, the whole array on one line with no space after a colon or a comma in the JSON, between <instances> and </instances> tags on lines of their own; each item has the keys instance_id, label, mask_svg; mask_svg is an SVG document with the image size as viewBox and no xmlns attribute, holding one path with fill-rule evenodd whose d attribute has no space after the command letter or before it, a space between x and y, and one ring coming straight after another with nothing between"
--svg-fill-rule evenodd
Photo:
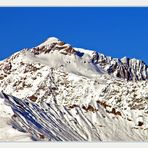
<instances>
[{"instance_id":1,"label":"plain white border strip above the blue sky","mask_svg":"<svg viewBox=\"0 0 148 148\"><path fill-rule=\"evenodd\" d=\"M148 0L0 0L0 6L148 6Z\"/></svg>"}]
</instances>

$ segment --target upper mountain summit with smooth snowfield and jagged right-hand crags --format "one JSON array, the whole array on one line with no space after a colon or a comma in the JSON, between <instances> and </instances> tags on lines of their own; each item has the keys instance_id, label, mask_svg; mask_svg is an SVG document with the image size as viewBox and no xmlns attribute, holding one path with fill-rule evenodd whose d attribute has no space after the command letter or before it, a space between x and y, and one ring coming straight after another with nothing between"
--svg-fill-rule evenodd
<instances>
[{"instance_id":1,"label":"upper mountain summit with smooth snowfield and jagged right-hand crags","mask_svg":"<svg viewBox=\"0 0 148 148\"><path fill-rule=\"evenodd\" d=\"M24 49L11 56L10 59L16 59L16 62L38 62L55 68L63 67L65 71L77 71L77 74L79 71L87 73L85 71L89 69L93 73L96 71L97 73L108 73L113 77L128 81L148 79L148 66L143 61L127 57L112 58L95 50L72 47L55 37L48 38L32 49Z\"/></svg>"}]
</instances>

